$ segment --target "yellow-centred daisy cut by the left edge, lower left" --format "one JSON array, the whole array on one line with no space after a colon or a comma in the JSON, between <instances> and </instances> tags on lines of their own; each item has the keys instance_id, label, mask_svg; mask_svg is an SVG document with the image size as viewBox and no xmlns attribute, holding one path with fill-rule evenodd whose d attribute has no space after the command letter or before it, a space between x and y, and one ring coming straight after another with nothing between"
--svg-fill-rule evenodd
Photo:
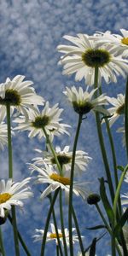
<instances>
[{"instance_id":1,"label":"yellow-centred daisy cut by the left edge, lower left","mask_svg":"<svg viewBox=\"0 0 128 256\"><path fill-rule=\"evenodd\" d=\"M10 210L11 206L23 207L22 199L32 196L30 188L26 187L31 177L26 177L20 183L15 183L10 178L7 182L0 180L0 217L5 216L4 210Z\"/></svg>"}]
</instances>

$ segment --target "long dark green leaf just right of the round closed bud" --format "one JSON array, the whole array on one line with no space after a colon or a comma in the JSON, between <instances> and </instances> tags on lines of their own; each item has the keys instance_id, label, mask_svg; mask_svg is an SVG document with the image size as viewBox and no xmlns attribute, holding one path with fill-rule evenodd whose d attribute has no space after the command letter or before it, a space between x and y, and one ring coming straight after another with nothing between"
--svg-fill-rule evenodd
<instances>
[{"instance_id":1,"label":"long dark green leaf just right of the round closed bud","mask_svg":"<svg viewBox=\"0 0 128 256\"><path fill-rule=\"evenodd\" d=\"M105 185L104 185L104 178L100 178L100 195L101 195L101 199L102 199L102 204L108 214L108 219L110 224L113 223L114 220L114 214L113 214L113 209L108 201L108 196L106 194L106 189L105 189Z\"/></svg>"}]
</instances>

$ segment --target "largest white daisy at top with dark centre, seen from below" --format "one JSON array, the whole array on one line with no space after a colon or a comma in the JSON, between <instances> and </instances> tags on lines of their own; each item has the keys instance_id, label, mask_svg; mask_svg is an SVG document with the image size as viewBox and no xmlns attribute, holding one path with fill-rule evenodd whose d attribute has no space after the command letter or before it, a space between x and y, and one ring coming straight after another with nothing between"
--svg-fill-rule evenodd
<instances>
[{"instance_id":1,"label":"largest white daisy at top with dark centre, seen from below","mask_svg":"<svg viewBox=\"0 0 128 256\"><path fill-rule=\"evenodd\" d=\"M127 61L122 56L115 56L113 47L104 44L98 45L96 39L85 34L78 34L77 37L64 36L73 45L59 45L58 51L63 53L59 64L63 65L63 74L76 73L75 80L85 79L86 84L94 84L95 67L98 67L98 83L102 78L108 84L110 81L116 83L116 75L128 73Z\"/></svg>"}]
</instances>

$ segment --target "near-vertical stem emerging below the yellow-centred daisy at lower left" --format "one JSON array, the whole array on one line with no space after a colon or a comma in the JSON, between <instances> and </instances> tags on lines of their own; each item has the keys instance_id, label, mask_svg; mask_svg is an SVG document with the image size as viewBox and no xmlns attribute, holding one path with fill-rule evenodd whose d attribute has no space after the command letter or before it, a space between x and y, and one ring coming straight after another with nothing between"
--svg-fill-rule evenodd
<instances>
[{"instance_id":1,"label":"near-vertical stem emerging below the yellow-centred daisy at lower left","mask_svg":"<svg viewBox=\"0 0 128 256\"><path fill-rule=\"evenodd\" d=\"M17 232L17 224L16 224L16 214L15 214L15 207L12 206L12 224L14 229L14 240L15 240L15 255L20 256L20 249L19 249L19 241L18 241L18 232Z\"/></svg>"}]
</instances>

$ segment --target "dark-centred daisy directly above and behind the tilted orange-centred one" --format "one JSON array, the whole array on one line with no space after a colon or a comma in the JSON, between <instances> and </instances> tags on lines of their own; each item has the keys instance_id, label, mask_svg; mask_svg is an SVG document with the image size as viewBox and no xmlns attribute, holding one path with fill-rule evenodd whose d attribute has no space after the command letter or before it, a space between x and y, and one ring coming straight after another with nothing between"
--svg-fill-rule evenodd
<instances>
[{"instance_id":1,"label":"dark-centred daisy directly above and behind the tilted orange-centred one","mask_svg":"<svg viewBox=\"0 0 128 256\"><path fill-rule=\"evenodd\" d=\"M63 172L70 172L71 170L73 152L69 151L69 148L69 146L66 146L61 150L59 146L55 147L55 154ZM36 151L39 154L42 154L42 157L34 158L34 165L42 166L45 162L48 165L56 166L53 154L39 149L36 149ZM91 160L91 157L88 156L86 152L77 150L75 155L74 173L77 174L86 171L89 160Z\"/></svg>"}]
</instances>

